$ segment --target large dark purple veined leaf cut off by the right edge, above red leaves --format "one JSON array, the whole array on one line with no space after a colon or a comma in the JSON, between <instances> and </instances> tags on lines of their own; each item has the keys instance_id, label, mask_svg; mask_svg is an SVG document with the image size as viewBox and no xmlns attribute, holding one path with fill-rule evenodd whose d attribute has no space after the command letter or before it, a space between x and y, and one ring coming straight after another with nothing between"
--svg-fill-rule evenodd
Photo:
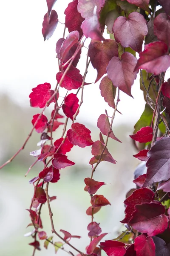
<instances>
[{"instance_id":1,"label":"large dark purple veined leaf cut off by the right edge, above red leaves","mask_svg":"<svg viewBox=\"0 0 170 256\"><path fill-rule=\"evenodd\" d=\"M147 175L144 187L153 182L166 181L170 179L170 137L157 140L147 153Z\"/></svg>"}]
</instances>

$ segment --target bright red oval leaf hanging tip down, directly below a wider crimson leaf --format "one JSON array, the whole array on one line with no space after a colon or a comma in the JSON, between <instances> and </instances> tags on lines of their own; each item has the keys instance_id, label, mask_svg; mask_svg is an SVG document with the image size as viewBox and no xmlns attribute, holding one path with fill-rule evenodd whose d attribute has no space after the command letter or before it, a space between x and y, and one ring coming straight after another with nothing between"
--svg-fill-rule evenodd
<instances>
[{"instance_id":1,"label":"bright red oval leaf hanging tip down, directly below a wider crimson leaf","mask_svg":"<svg viewBox=\"0 0 170 256\"><path fill-rule=\"evenodd\" d=\"M79 99L76 94L70 93L65 97L64 104L62 104L62 110L67 117L70 117L73 120L73 116L79 107Z\"/></svg>"}]
</instances>

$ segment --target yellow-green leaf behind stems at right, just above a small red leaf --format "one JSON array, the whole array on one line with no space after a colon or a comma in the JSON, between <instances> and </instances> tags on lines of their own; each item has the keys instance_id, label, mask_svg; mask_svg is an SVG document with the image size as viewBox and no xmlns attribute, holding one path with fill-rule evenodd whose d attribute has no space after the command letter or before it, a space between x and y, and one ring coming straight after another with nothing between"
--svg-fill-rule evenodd
<instances>
[{"instance_id":1,"label":"yellow-green leaf behind stems at right, just above a small red leaf","mask_svg":"<svg viewBox=\"0 0 170 256\"><path fill-rule=\"evenodd\" d=\"M142 127L150 126L152 122L152 116L153 116L153 110L150 108L148 104L146 104L144 108L144 112L142 113L142 116L134 126L135 130L133 134L139 131Z\"/></svg>"}]
</instances>

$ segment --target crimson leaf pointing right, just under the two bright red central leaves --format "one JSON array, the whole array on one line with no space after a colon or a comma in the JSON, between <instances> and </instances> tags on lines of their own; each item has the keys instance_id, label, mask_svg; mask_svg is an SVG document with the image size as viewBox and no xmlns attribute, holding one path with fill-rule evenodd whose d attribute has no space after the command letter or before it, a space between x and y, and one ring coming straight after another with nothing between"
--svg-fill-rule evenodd
<instances>
[{"instance_id":1,"label":"crimson leaf pointing right, just under the two bright red central leaves","mask_svg":"<svg viewBox=\"0 0 170 256\"><path fill-rule=\"evenodd\" d=\"M52 165L56 168L56 169L62 169L65 168L67 166L72 166L75 163L68 160L66 155L63 155L61 153L56 153L54 154L54 158L52 160Z\"/></svg>"}]
</instances>

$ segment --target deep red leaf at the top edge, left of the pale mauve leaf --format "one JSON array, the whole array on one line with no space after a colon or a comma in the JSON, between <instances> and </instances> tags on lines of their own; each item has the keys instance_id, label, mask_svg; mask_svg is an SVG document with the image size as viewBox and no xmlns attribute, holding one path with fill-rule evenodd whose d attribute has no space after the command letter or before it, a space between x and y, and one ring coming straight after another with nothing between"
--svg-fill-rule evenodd
<instances>
[{"instance_id":1,"label":"deep red leaf at the top edge, left of the pale mauve leaf","mask_svg":"<svg viewBox=\"0 0 170 256\"><path fill-rule=\"evenodd\" d=\"M82 37L82 29L80 28L83 17L77 11L78 0L68 4L68 7L65 9L65 26L68 28L68 32L77 30L79 32L80 38Z\"/></svg>"}]
</instances>

